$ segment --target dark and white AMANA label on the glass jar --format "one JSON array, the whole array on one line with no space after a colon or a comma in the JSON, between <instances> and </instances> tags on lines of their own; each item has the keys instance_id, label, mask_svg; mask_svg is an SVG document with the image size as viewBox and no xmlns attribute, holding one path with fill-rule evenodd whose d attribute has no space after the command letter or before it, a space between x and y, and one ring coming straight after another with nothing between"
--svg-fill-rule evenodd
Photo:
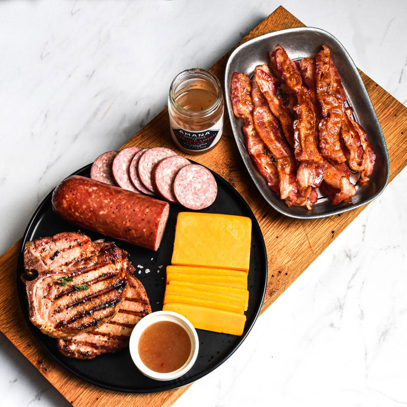
<instances>
[{"instance_id":1,"label":"dark and white AMANA label on the glass jar","mask_svg":"<svg viewBox=\"0 0 407 407\"><path fill-rule=\"evenodd\" d=\"M216 144L222 135L223 114L222 117L209 129L201 131L191 131L180 127L170 126L172 137L180 143L181 147L192 151L202 151L209 149L212 144Z\"/></svg>"}]
</instances>

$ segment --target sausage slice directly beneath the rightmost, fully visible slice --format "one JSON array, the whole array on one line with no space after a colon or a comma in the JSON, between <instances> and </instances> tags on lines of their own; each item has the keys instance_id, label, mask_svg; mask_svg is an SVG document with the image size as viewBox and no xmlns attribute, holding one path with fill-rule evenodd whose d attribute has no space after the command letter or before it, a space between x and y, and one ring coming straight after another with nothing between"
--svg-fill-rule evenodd
<instances>
[{"instance_id":1,"label":"sausage slice directly beneath the rightmost, fully visible slice","mask_svg":"<svg viewBox=\"0 0 407 407\"><path fill-rule=\"evenodd\" d=\"M190 161L181 156L171 156L161 160L153 170L153 185L155 190L169 202L177 203L172 193L172 184L177 172Z\"/></svg>"}]
</instances>

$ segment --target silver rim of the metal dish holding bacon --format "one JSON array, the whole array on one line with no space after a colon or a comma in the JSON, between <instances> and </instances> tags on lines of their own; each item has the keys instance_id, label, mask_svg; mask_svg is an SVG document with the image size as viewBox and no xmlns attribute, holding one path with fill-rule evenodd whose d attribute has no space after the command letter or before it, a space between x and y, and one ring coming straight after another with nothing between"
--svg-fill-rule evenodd
<instances>
[{"instance_id":1,"label":"silver rim of the metal dish holding bacon","mask_svg":"<svg viewBox=\"0 0 407 407\"><path fill-rule=\"evenodd\" d=\"M322 213L322 214L309 214L309 215L299 215L299 214L294 214L292 212L289 211L289 208L280 208L277 205L275 205L275 203L272 201L272 199L270 199L268 196L266 196L263 191L261 191L259 185L257 185L257 182L254 180L254 178L251 175L251 169L249 167L249 163L247 162L248 160L244 159L243 156L243 152L245 149L245 147L241 146L241 143L238 140L238 135L236 134L237 131L235 131L235 126L234 126L234 120L236 119L234 113L233 113L233 107L231 106L231 102L230 102L230 86L228 83L228 76L229 76L229 72L230 72L230 65L232 60L234 60L235 55L242 49L245 48L247 46L250 46L251 44L255 43L256 41L258 41L259 39L263 39L263 38L272 38L275 37L276 35L281 35L281 34L291 34L291 33L298 33L298 32L313 32L313 33L319 33L322 34L326 37L328 37L329 39L331 39L333 42L335 42L338 47L340 48L341 52L346 56L348 62L350 63L351 69L355 75L355 78L358 82L358 86L361 90L361 92L364 95L364 99L366 100L367 103L367 107L372 115L373 121L374 121L374 125L377 127L377 129L379 130L379 141L380 144L383 147L383 153L384 153L384 163L386 165L386 177L385 177L385 181L383 183L383 185L381 186L381 188L379 190L376 191L376 193L374 195L372 195L370 198L364 199L360 202L357 203L351 203L349 206L347 207L342 207L342 208L338 208L338 209L334 209L332 211L330 211L329 213ZM366 86L363 83L363 80L359 74L358 68L355 65L354 61L352 60L352 57L349 55L349 53L346 51L346 48L341 44L341 42L335 37L333 36L331 33L322 30L321 28L317 28L317 27L294 27L294 28L285 28L284 30L277 30L277 31L273 31L271 33L267 33L267 34L263 34L254 38L251 38L250 40L244 42L243 44L239 45L238 47L236 47L231 54L229 55L227 62L226 62L226 66L225 66L225 75L224 75L224 82L223 82L223 90L225 92L225 99L226 99L226 106L227 106L227 111L228 111L228 115L229 115L229 120L230 120L230 126L232 129L232 133L234 135L234 139L237 145L237 148L239 150L241 159L246 167L247 172L249 173L249 176L253 182L253 184L255 185L255 187L257 188L258 192L260 193L261 196L263 196L263 198L267 201L267 203L269 203L269 205L277 212L281 213L282 215L285 215L289 218L295 218L295 219L318 219L318 218L325 218L325 217L329 217L329 216L334 216L334 215L338 215L338 214L342 214L344 212L347 211L351 211L353 209L359 208L361 206L367 205L367 203L371 202L373 199L376 199L386 188L388 181L389 181L389 176L390 176L390 159L389 159L389 152L387 149L387 145L386 145L386 140L384 138L383 135L383 130L382 127L380 125L379 119L377 118L377 114L374 111L373 108L373 104L370 100L369 94L367 93L366 90ZM356 112L357 113L357 112ZM240 131L242 131L240 129ZM333 206L333 208L335 208ZM311 212L311 211L309 211Z\"/></svg>"}]
</instances>

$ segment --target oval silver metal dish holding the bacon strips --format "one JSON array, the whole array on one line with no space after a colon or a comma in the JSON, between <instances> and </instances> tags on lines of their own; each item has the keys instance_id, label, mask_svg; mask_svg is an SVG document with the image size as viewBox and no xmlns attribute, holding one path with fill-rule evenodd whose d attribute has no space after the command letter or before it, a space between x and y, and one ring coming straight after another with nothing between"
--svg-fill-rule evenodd
<instances>
[{"instance_id":1,"label":"oval silver metal dish holding the bacon strips","mask_svg":"<svg viewBox=\"0 0 407 407\"><path fill-rule=\"evenodd\" d=\"M351 203L341 202L339 205L333 206L326 198L318 198L310 211L295 205L288 208L284 201L268 188L264 178L250 159L242 132L243 120L234 115L230 102L231 77L234 72L243 72L251 77L257 65L269 63L268 51L273 50L277 44L281 45L293 60L302 59L318 52L324 44L331 49L332 59L341 76L347 101L354 109L356 121L365 129L376 154L376 163L373 173L369 177L370 181L363 187L357 186L356 195ZM322 218L358 208L383 192L390 169L389 154L383 132L358 69L342 44L331 34L319 30L319 28L299 27L276 31L249 40L237 47L229 56L224 85L230 123L243 162L259 192L276 211L292 218Z\"/></svg>"}]
</instances>

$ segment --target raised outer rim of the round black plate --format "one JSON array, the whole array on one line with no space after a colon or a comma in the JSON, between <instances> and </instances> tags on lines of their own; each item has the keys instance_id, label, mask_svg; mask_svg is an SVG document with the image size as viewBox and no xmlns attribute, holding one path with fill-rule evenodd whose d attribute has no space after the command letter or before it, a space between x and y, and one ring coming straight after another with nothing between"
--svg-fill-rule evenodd
<instances>
[{"instance_id":1,"label":"raised outer rim of the round black plate","mask_svg":"<svg viewBox=\"0 0 407 407\"><path fill-rule=\"evenodd\" d=\"M190 161L191 161L191 163L195 163L195 162L192 161L192 160L190 160ZM196 164L198 164L198 163L196 163ZM199 164L199 165L202 165L202 164ZM80 169L76 170L75 172L73 172L73 173L72 173L70 176L68 176L68 177L71 177L71 176L74 176L74 175L78 175L78 173L80 173L80 172L82 172L82 171L84 171L84 170L86 170L86 169L88 169L88 168L90 169L91 166L92 166L92 163L90 163L90 164L88 164L88 165L85 165L85 166L81 167ZM207 168L207 167L206 167L206 168ZM47 346L44 346L44 345L37 339L37 335L38 335L38 334L41 334L41 335L45 335L45 334L43 334L37 327L35 327L35 326L31 323L31 321L28 319L28 316L27 316L26 313L24 312L23 307L26 306L27 300L26 300L26 298L25 298L25 295L23 295L23 290L22 290L22 289L19 289L19 286L18 286L19 284L22 284L22 281L21 281L21 278L20 278L20 276L21 276L20 270L21 270L21 267L23 268L23 263L22 263L22 261L23 261L23 251L24 251L24 244L25 244L25 242L26 242L27 235L28 235L28 233L30 232L30 229L31 229L31 227L32 227L32 225L33 225L33 223L34 223L36 217L38 216L38 213L42 210L42 208L43 208L43 206L45 205L45 203L47 202L47 200L50 199L50 197L51 197L51 195L52 195L52 192L53 192L53 190L55 189L55 187L54 187L54 188L52 188L52 190L45 196L45 198L42 200L42 202L40 203L40 205L39 205L39 206L37 207L37 209L35 210L33 216L31 217L30 221L29 221L28 224L27 224L27 227L26 227L26 229L25 229L25 231L24 231L24 235L23 235L23 237L22 237L22 239L21 239L21 244L20 244L20 248L19 248L19 251L18 251L18 258L17 258L17 270L16 270L17 285L16 285L16 289L17 289L17 294L18 294L18 299L19 299L19 302L20 302L20 306L21 306L21 311L22 311L22 313L23 313L23 317L24 317L24 319L25 319L25 322L26 322L27 325L28 325L28 328L30 329L30 331L31 331L31 333L33 334L33 336L34 336L36 342L40 345L40 347L42 348L42 350L47 354L48 357L50 357L50 358L51 358L55 363L57 363L60 367L64 368L65 370L67 370L68 372L70 372L71 374L73 374L74 376L78 377L80 380L83 380L83 381L86 382L86 383L90 383L90 384L92 384L92 385L95 385L95 386L97 386L97 387L99 387L99 388L103 388L103 389L107 389L107 390L112 390L112 391L117 391L117 392L121 392L121 393L131 393L131 394L157 393L157 392L161 392L161 391L175 390L175 389L178 389L178 388L181 388L181 387L184 387L184 386L187 386L187 385L189 385L189 384L191 384L191 383L196 382L197 380L199 380L199 379L201 379L203 376L206 376L207 374L211 373L212 371L214 371L215 369L217 369L220 365L222 365L224 362L226 362L226 360L228 360L228 359L238 350L238 348L242 345L242 343L246 340L248 334L250 333L250 331L252 330L254 324L255 324L256 321L257 321L257 318L258 318L258 316L259 316L260 310L261 310L261 308L263 307L264 297L265 297L265 294L266 294L267 279L268 279L268 259L267 259L266 244L265 244L265 241L264 241L263 233L261 232L260 225L258 224L257 218L256 218L256 216L254 215L254 213L253 213L253 211L251 210L251 208L250 208L250 206L248 205L248 203L246 202L246 200L243 198L243 196L239 193L239 191L238 191L234 186L232 186L228 181L226 181L226 180L225 180L222 176L220 176L217 172L213 171L213 170L210 169L210 168L208 168L208 169L212 172L212 174L213 174L214 177L217 179L217 181L223 182L226 186L228 186L228 188L234 190L235 193L240 196L241 202L243 203L243 206L245 207L246 210L248 210L249 215L251 215L250 218L251 218L251 221L252 221L252 227L255 227L256 232L257 232L257 235L258 235L259 238L260 238L260 239L259 239L259 241L260 241L259 243L260 243L260 246L261 246L261 247L259 248L259 251L262 252L262 258L261 258L261 260L263 261L264 266L265 266L265 267L264 267L264 275L263 275L263 280L264 280L264 281L263 281L263 284L261 285L263 288L261 289L260 298L259 298L259 300L258 300L258 301L259 301L259 304L258 304L258 306L256 307L256 310L255 310L255 314L254 314L252 323L247 327L247 331L240 337L240 340L239 340L238 344L237 344L231 351L229 351L229 352L226 354L226 356L225 356L221 361L219 361L219 362L216 363L215 365L211 366L210 368L206 369L205 371L203 371L203 372L197 374L196 376L193 376L193 377L191 377L190 379L188 379L188 380L186 380L185 382L182 382L182 383L173 383L172 385L167 385L167 386L163 385L163 386L157 387L157 388L154 389L153 391L151 391L150 389L147 389L147 390L143 390L143 389L138 390L138 389L137 389L137 391L135 391L134 389L130 389L130 388L119 388L119 387L115 387L115 386L109 386L109 385L101 384L100 382L94 381L93 379L91 379L91 378L89 378L89 377L87 377L87 376L85 376L85 375L83 375L83 374L81 374L81 373L78 373L77 371L75 371L75 370L72 369L71 367L67 366L66 364L61 363L61 361L60 361L59 359L57 359L57 358L52 354L52 352L48 349L48 347L47 347ZM66 177L66 178L68 178L68 177ZM66 179L66 178L64 178L64 179ZM255 222L253 222L253 219L255 220ZM25 292L24 292L24 294L25 294ZM165 383L165 382L160 382L160 383Z\"/></svg>"}]
</instances>

